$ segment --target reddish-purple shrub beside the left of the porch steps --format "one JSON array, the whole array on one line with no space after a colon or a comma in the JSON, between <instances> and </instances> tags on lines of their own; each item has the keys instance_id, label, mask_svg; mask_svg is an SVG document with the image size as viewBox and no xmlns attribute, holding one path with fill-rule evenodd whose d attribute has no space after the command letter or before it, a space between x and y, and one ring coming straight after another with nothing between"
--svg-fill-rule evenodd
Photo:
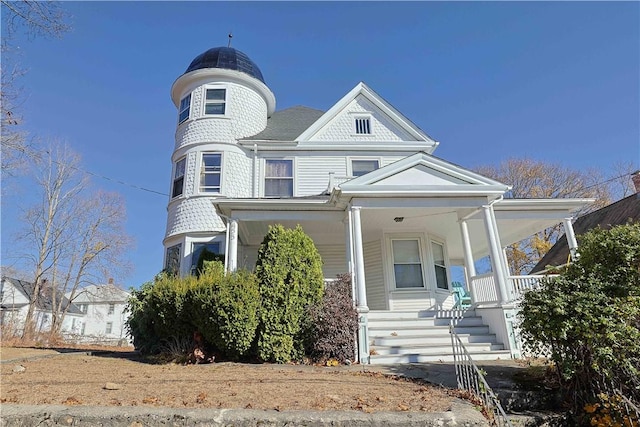
<instances>
[{"instance_id":1,"label":"reddish-purple shrub beside the left of the porch steps","mask_svg":"<svg viewBox=\"0 0 640 427\"><path fill-rule=\"evenodd\" d=\"M309 308L311 331L307 354L317 362L353 359L358 313L351 297L351 276L343 274L327 285L322 301Z\"/></svg>"}]
</instances>

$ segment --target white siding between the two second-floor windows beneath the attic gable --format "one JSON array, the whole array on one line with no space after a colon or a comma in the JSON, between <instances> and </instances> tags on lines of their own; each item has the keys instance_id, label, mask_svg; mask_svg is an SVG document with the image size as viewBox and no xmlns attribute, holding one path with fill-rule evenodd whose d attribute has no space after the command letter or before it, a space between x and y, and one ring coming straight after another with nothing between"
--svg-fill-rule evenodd
<instances>
[{"instance_id":1,"label":"white siding between the two second-floor windows beneath the attic gable","mask_svg":"<svg viewBox=\"0 0 640 427\"><path fill-rule=\"evenodd\" d=\"M347 175L346 156L304 156L297 159L298 196L321 194L329 187L329 172Z\"/></svg>"}]
</instances>

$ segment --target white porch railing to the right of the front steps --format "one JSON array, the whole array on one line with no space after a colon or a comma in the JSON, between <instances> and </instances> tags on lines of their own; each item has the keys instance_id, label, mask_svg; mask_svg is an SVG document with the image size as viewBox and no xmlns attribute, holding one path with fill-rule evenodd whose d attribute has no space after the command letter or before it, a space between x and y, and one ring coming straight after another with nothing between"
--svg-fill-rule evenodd
<instances>
[{"instance_id":1,"label":"white porch railing to the right of the front steps","mask_svg":"<svg viewBox=\"0 0 640 427\"><path fill-rule=\"evenodd\" d=\"M537 289L543 279L557 277L557 275L531 275L507 277L507 302L522 299L525 292ZM471 292L476 304L490 304L498 302L493 273L485 273L471 278Z\"/></svg>"}]
</instances>

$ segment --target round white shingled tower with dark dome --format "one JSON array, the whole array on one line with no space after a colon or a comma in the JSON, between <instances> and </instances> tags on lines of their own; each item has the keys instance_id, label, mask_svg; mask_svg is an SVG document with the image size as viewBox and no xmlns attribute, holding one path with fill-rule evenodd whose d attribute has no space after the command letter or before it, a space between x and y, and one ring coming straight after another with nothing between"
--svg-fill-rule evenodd
<instances>
[{"instance_id":1,"label":"round white shingled tower with dark dome","mask_svg":"<svg viewBox=\"0 0 640 427\"><path fill-rule=\"evenodd\" d=\"M207 90L213 90L217 97L207 100ZM171 156L163 267L168 267L167 249L173 248L180 273L185 275L194 265L194 244L213 244L220 252L225 250L225 223L211 202L218 197L253 196L253 155L239 146L238 140L265 129L267 118L275 109L275 97L253 61L240 51L222 47L197 56L174 82L171 98L178 123ZM185 99L188 102L183 102L181 108ZM207 104L218 104L220 108L207 114ZM183 115L179 117L181 111ZM219 188L201 186L205 153L220 156ZM184 176L177 180L176 164L183 159ZM214 171L206 176L215 175ZM176 197L174 186L181 188Z\"/></svg>"}]
</instances>

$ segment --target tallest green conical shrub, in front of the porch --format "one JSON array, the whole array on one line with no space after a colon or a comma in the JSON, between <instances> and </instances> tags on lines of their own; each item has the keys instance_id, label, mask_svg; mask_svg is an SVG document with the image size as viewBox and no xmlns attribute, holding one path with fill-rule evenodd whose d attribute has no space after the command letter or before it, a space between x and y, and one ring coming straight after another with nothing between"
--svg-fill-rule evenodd
<instances>
[{"instance_id":1,"label":"tallest green conical shrub, in front of the porch","mask_svg":"<svg viewBox=\"0 0 640 427\"><path fill-rule=\"evenodd\" d=\"M258 357L284 363L300 358L310 322L307 307L320 301L322 259L300 226L269 228L256 263L261 296L257 331Z\"/></svg>"}]
</instances>

